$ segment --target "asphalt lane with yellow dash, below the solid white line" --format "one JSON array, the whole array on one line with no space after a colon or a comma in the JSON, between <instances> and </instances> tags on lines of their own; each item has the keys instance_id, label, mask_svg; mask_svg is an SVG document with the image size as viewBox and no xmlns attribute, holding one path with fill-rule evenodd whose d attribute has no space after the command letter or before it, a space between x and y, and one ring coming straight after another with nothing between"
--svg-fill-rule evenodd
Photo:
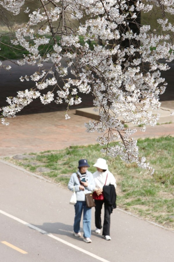
<instances>
[{"instance_id":1,"label":"asphalt lane with yellow dash, below the solid white line","mask_svg":"<svg viewBox=\"0 0 174 262\"><path fill-rule=\"evenodd\" d=\"M6 262L33 262L33 261L75 261L78 256L80 261L89 261L89 256L77 251L71 246L61 243L57 239L48 237L47 234L33 230L14 219L0 214L1 230L0 259ZM10 246L9 246L10 244ZM91 261L96 261L91 259Z\"/></svg>"}]
</instances>

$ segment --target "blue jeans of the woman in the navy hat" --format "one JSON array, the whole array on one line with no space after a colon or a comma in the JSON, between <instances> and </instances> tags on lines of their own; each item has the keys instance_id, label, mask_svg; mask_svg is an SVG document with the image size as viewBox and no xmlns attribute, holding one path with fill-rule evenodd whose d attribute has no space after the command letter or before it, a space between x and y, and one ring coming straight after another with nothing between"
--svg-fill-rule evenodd
<instances>
[{"instance_id":1,"label":"blue jeans of the woman in the navy hat","mask_svg":"<svg viewBox=\"0 0 174 262\"><path fill-rule=\"evenodd\" d=\"M80 220L82 211L83 212L83 231L84 238L90 238L91 236L91 208L87 208L85 201L77 201L75 207L75 218L74 218L74 232L80 232Z\"/></svg>"}]
</instances>

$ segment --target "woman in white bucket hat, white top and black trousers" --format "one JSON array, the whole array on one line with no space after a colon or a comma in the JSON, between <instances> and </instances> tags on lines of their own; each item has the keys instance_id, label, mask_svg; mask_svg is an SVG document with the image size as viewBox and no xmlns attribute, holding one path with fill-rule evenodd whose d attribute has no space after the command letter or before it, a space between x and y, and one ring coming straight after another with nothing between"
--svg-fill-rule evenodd
<instances>
[{"instance_id":1,"label":"woman in white bucket hat, white top and black trousers","mask_svg":"<svg viewBox=\"0 0 174 262\"><path fill-rule=\"evenodd\" d=\"M93 174L95 180L95 192L93 197L95 199L95 233L100 233L102 229L102 220L101 220L101 210L104 203L104 223L103 223L103 237L106 240L111 240L110 237L110 213L111 207L108 205L106 199L102 197L104 186L113 185L110 188L115 191L116 188L116 180L112 173L108 170L108 165L106 164L106 160L103 158L98 158L97 162L93 165L97 168L97 171ZM106 188L106 187L105 187ZM115 194L116 201L116 192ZM97 200L98 197L102 200ZM113 208L116 207L116 204L113 205ZM112 208L112 209L113 209Z\"/></svg>"}]
</instances>

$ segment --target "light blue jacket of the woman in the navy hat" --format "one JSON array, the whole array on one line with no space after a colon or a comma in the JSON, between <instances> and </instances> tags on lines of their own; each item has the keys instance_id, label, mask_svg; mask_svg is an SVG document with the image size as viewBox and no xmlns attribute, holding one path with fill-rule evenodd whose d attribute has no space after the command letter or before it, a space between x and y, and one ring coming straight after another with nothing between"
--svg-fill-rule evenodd
<instances>
[{"instance_id":1,"label":"light blue jacket of the woman in the navy hat","mask_svg":"<svg viewBox=\"0 0 174 262\"><path fill-rule=\"evenodd\" d=\"M82 176L79 170L77 171L77 173L79 174L79 178L81 180ZM68 189L73 191L73 188L74 188L76 192L77 201L85 201L85 194L91 193L92 191L95 190L95 182L94 182L93 174L89 172L88 170L86 171L85 179L88 180L88 186L85 187L85 190L83 191L79 189L80 182L77 177L77 173L73 173L71 175L69 183L68 183Z\"/></svg>"}]
</instances>

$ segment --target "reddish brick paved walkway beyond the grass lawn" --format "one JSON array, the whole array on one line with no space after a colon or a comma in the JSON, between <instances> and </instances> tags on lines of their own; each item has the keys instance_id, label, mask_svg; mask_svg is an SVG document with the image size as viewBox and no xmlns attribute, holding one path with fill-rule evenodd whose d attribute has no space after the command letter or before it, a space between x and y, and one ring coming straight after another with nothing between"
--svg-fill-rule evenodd
<instances>
[{"instance_id":1,"label":"reddish brick paved walkway beyond the grass lawn","mask_svg":"<svg viewBox=\"0 0 174 262\"><path fill-rule=\"evenodd\" d=\"M73 145L96 144L98 133L87 133L84 126L90 118L69 112L65 120L64 112L48 112L17 116L10 119L10 125L0 125L0 156L22 153L36 153L58 150ZM174 136L174 123L148 126L146 132L137 128L134 138Z\"/></svg>"}]
</instances>

